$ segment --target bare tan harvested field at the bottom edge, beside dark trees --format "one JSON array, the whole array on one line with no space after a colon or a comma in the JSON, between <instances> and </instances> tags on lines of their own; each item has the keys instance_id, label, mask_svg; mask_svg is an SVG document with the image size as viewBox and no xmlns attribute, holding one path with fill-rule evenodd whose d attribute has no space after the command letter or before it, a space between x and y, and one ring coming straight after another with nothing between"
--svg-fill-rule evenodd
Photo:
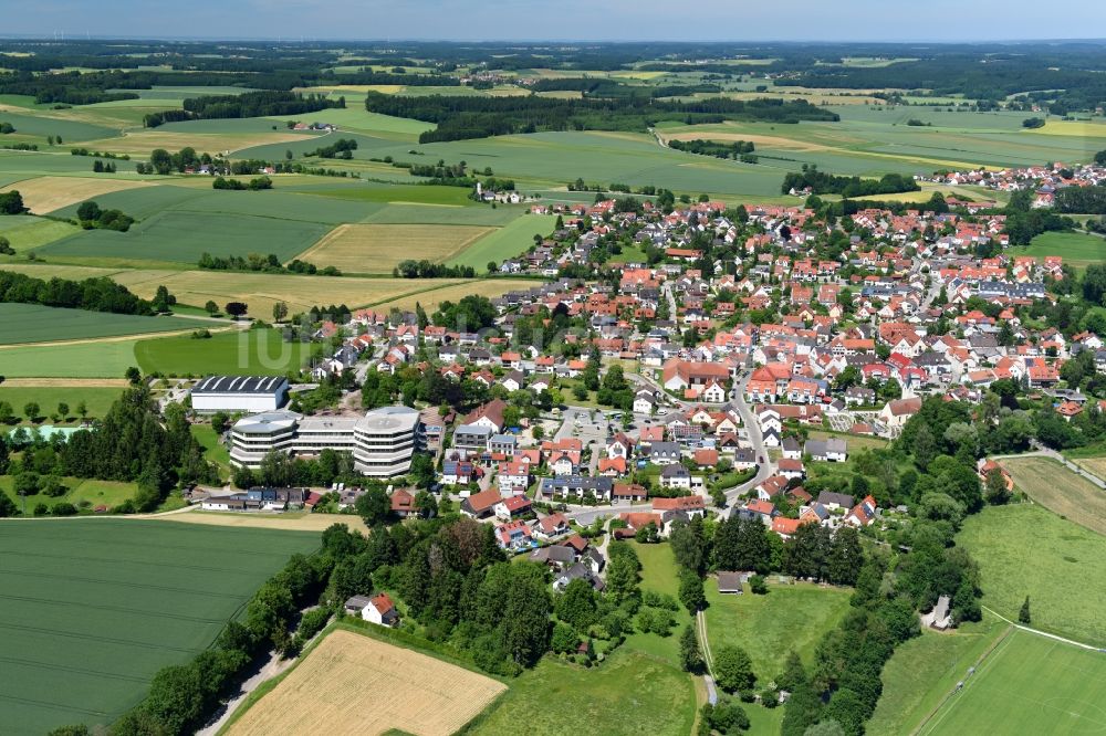
<instances>
[{"instance_id":1,"label":"bare tan harvested field at the bottom edge, beside dark trees","mask_svg":"<svg viewBox=\"0 0 1106 736\"><path fill-rule=\"evenodd\" d=\"M491 677L337 629L227 733L449 736L505 690Z\"/></svg>"}]
</instances>

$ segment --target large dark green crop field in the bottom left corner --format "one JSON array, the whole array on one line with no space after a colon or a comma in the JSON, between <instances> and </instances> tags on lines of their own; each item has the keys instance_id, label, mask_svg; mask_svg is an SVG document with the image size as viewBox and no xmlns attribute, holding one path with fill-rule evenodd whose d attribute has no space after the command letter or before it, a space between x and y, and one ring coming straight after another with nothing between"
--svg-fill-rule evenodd
<instances>
[{"instance_id":1,"label":"large dark green crop field in the bottom left corner","mask_svg":"<svg viewBox=\"0 0 1106 736\"><path fill-rule=\"evenodd\" d=\"M3 524L4 732L106 725L319 535L160 521Z\"/></svg>"}]
</instances>

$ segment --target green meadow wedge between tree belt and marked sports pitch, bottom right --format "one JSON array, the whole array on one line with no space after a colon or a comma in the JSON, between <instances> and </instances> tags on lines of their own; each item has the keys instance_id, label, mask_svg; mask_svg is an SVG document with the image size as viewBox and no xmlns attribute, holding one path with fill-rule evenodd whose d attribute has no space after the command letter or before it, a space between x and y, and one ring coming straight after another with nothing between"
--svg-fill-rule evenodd
<instances>
[{"instance_id":1,"label":"green meadow wedge between tree belt and marked sports pitch, bottom right","mask_svg":"<svg viewBox=\"0 0 1106 736\"><path fill-rule=\"evenodd\" d=\"M880 674L884 692L865 733L912 733L1008 627L988 614L979 623L964 623L949 632L922 629L920 637L899 644Z\"/></svg>"}]
</instances>

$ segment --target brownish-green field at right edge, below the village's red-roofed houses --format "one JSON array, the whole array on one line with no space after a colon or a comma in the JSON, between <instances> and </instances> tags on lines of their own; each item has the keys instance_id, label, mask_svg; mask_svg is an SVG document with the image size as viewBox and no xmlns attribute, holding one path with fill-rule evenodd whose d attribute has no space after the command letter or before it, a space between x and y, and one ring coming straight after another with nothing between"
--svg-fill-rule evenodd
<instances>
[{"instance_id":1,"label":"brownish-green field at right edge, below the village's red-roofed houses","mask_svg":"<svg viewBox=\"0 0 1106 736\"><path fill-rule=\"evenodd\" d=\"M1001 463L1013 476L1014 486L1030 498L1081 526L1106 534L1106 491L1048 458L1011 458Z\"/></svg>"}]
</instances>

